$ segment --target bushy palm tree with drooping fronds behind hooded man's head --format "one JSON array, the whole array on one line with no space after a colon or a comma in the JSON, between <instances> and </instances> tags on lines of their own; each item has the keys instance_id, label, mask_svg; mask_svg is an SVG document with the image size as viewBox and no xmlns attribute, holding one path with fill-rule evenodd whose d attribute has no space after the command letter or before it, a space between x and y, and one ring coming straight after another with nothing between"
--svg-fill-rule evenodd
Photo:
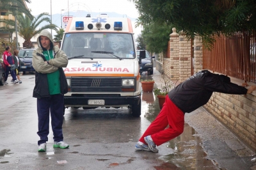
<instances>
[{"instance_id":1,"label":"bushy palm tree with drooping fronds behind hooded man's head","mask_svg":"<svg viewBox=\"0 0 256 170\"><path fill-rule=\"evenodd\" d=\"M23 47L31 48L33 47L33 44L31 43L31 38L33 36L38 35L42 30L44 29L54 29L57 31L55 24L51 24L51 20L49 19L48 13L40 13L38 17L34 18L33 20L29 19L28 16L18 16L19 25L18 25L18 31L19 36L24 38L25 42L23 43ZM42 22L48 22L49 24L37 28Z\"/></svg>"}]
</instances>

